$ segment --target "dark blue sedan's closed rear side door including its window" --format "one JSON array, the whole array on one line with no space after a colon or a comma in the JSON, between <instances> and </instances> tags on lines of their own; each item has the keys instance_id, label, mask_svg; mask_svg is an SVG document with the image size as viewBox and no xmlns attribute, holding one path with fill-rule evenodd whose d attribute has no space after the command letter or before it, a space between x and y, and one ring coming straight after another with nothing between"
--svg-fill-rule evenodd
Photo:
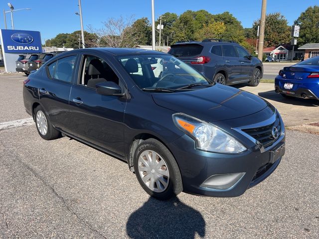
<instances>
[{"instance_id":1,"label":"dark blue sedan's closed rear side door including its window","mask_svg":"<svg viewBox=\"0 0 319 239\"><path fill-rule=\"evenodd\" d=\"M43 81L39 98L52 124L66 132L71 130L69 96L77 62L77 54L59 58L46 66L48 80Z\"/></svg>"}]
</instances>

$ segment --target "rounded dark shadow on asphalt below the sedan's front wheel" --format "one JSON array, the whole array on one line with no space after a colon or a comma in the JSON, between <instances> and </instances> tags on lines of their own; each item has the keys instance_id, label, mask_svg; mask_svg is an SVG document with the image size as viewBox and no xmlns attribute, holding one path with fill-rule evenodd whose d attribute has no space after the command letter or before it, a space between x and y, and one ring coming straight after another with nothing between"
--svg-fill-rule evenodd
<instances>
[{"instance_id":1,"label":"rounded dark shadow on asphalt below the sedan's front wheel","mask_svg":"<svg viewBox=\"0 0 319 239\"><path fill-rule=\"evenodd\" d=\"M177 197L159 201L152 197L131 214L126 224L129 238L195 238L205 236L205 221L195 209Z\"/></svg>"}]
</instances>

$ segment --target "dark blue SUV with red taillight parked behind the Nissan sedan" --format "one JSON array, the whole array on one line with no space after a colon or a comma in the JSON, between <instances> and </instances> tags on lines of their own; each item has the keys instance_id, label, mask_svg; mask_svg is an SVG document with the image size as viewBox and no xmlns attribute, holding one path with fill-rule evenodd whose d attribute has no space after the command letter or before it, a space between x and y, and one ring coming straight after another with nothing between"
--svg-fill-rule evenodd
<instances>
[{"instance_id":1,"label":"dark blue SUV with red taillight parked behind the Nissan sedan","mask_svg":"<svg viewBox=\"0 0 319 239\"><path fill-rule=\"evenodd\" d=\"M258 86L263 77L263 63L241 45L222 39L187 41L170 46L171 54L191 65L209 80L233 85L247 82Z\"/></svg>"}]
</instances>

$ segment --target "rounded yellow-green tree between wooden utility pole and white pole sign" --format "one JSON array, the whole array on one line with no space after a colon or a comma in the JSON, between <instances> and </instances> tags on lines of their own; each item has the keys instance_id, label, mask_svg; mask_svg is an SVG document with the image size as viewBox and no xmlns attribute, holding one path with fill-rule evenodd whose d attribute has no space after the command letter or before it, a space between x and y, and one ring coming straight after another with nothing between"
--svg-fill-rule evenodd
<instances>
[{"instance_id":1,"label":"rounded yellow-green tree between wooden utility pole and white pole sign","mask_svg":"<svg viewBox=\"0 0 319 239\"><path fill-rule=\"evenodd\" d=\"M253 23L253 31L257 32L260 19ZM288 21L280 12L266 15L264 47L278 46L290 42L291 27Z\"/></svg>"}]
</instances>

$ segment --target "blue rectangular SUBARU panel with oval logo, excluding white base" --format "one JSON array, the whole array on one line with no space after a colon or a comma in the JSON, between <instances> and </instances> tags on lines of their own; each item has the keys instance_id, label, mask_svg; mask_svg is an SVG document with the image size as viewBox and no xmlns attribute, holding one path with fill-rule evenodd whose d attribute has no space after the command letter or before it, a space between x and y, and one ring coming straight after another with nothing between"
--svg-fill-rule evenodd
<instances>
[{"instance_id":1,"label":"blue rectangular SUBARU panel with oval logo, excluding white base","mask_svg":"<svg viewBox=\"0 0 319 239\"><path fill-rule=\"evenodd\" d=\"M1 30L1 43L6 53L42 52L39 31Z\"/></svg>"}]
</instances>

